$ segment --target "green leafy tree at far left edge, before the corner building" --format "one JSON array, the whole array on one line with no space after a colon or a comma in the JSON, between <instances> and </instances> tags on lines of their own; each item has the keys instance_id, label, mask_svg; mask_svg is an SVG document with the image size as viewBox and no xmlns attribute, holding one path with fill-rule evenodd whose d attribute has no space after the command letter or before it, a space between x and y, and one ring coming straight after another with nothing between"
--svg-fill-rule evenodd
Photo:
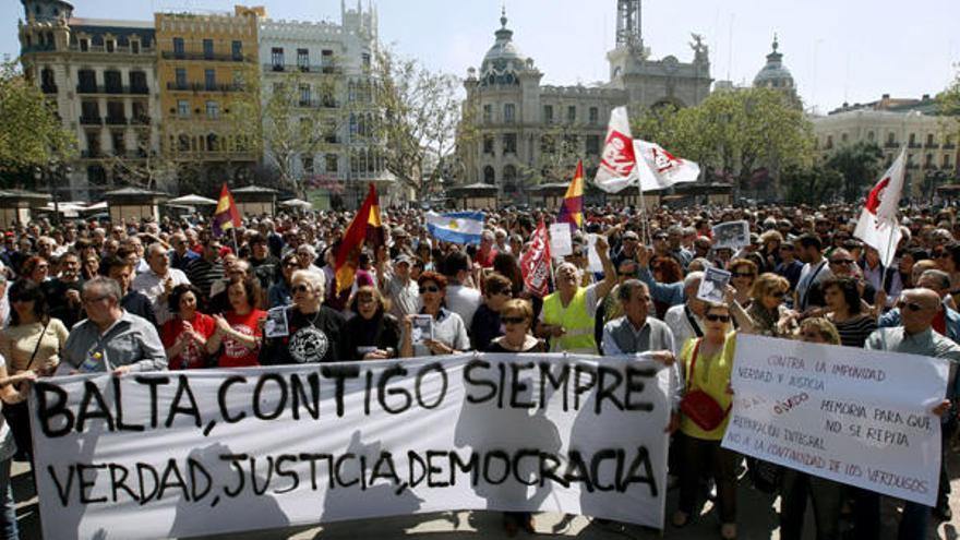
<instances>
[{"instance_id":1,"label":"green leafy tree at far left edge, before the corner building","mask_svg":"<svg viewBox=\"0 0 960 540\"><path fill-rule=\"evenodd\" d=\"M56 105L15 62L0 64L0 172L62 163L75 153L76 141L57 118Z\"/></svg>"}]
</instances>

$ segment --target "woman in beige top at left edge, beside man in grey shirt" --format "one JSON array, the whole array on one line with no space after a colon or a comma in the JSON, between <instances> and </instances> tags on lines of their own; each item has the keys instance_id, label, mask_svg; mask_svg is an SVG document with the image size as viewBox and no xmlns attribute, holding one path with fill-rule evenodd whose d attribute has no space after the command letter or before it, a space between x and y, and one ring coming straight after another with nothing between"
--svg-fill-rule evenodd
<instances>
[{"instance_id":1,"label":"woman in beige top at left edge, beside man in grey shirt","mask_svg":"<svg viewBox=\"0 0 960 540\"><path fill-rule=\"evenodd\" d=\"M10 286L8 296L10 325L0 332L0 355L7 359L8 372L27 377L52 375L60 364L60 351L67 345L70 332L59 319L49 315L39 284L19 279ZM12 405L3 413L13 429L16 446L27 456L32 455L26 403Z\"/></svg>"}]
</instances>

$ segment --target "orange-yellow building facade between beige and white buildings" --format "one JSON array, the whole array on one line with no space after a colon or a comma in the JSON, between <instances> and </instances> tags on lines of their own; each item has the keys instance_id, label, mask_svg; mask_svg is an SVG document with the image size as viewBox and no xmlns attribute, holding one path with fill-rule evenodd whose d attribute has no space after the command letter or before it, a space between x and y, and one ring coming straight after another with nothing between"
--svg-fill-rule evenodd
<instances>
[{"instance_id":1,"label":"orange-yellow building facade between beige and white buildings","mask_svg":"<svg viewBox=\"0 0 960 540\"><path fill-rule=\"evenodd\" d=\"M161 148L200 191L248 183L260 161L259 127L240 125L230 112L260 103L257 32L265 16L264 8L242 5L232 14L154 15Z\"/></svg>"}]
</instances>

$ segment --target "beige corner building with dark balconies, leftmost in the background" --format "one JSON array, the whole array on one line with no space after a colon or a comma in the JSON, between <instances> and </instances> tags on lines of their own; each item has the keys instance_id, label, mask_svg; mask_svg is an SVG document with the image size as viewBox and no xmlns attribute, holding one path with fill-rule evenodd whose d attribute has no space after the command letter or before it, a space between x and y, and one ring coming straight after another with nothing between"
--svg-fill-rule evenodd
<instances>
[{"instance_id":1,"label":"beige corner building with dark balconies, leftmost in the background","mask_svg":"<svg viewBox=\"0 0 960 540\"><path fill-rule=\"evenodd\" d=\"M56 103L80 146L55 185L60 200L100 199L125 184L165 189L143 170L159 153L159 87L153 24L73 17L61 0L24 0L24 72Z\"/></svg>"}]
</instances>

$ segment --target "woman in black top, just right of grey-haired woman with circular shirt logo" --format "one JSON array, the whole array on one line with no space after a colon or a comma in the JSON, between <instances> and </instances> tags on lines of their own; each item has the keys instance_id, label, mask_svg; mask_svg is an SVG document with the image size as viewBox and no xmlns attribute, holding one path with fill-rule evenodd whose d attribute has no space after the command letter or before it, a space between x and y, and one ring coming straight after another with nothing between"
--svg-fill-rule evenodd
<instances>
[{"instance_id":1,"label":"woman in black top, just right of grey-haired woman with circular shirt logo","mask_svg":"<svg viewBox=\"0 0 960 540\"><path fill-rule=\"evenodd\" d=\"M395 358L400 347L400 323L387 313L389 300L376 287L357 289L350 300L353 315L347 320L345 349L350 360Z\"/></svg>"}]
</instances>

